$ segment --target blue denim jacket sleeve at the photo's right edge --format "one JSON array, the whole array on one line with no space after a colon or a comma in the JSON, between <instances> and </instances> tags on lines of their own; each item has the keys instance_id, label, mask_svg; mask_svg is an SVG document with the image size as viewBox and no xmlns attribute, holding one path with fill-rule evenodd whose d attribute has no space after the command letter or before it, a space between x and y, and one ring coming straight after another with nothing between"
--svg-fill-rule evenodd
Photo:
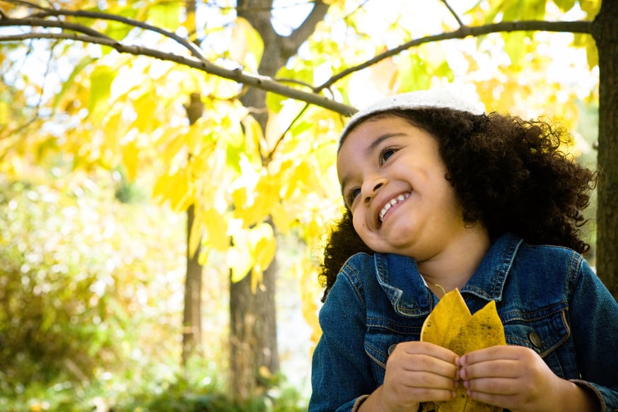
<instances>
[{"instance_id":1,"label":"blue denim jacket sleeve at the photo's right edge","mask_svg":"<svg viewBox=\"0 0 618 412\"><path fill-rule=\"evenodd\" d=\"M584 259L571 279L571 329L581 379L601 402L601 411L618 411L618 302Z\"/></svg>"}]
</instances>

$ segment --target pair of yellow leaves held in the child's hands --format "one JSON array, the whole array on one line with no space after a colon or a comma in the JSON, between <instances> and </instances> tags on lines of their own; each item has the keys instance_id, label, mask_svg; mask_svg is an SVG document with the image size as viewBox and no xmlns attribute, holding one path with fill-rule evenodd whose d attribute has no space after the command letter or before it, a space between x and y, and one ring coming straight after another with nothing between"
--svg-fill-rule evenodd
<instances>
[{"instance_id":1,"label":"pair of yellow leaves held in the child's hands","mask_svg":"<svg viewBox=\"0 0 618 412\"><path fill-rule=\"evenodd\" d=\"M504 328L493 300L474 315L470 314L459 290L446 293L425 319L421 341L435 343L457 353L477 351L489 346L506 345ZM457 388L452 401L436 402L438 412L499 412L502 408L470 399L465 388Z\"/></svg>"}]
</instances>

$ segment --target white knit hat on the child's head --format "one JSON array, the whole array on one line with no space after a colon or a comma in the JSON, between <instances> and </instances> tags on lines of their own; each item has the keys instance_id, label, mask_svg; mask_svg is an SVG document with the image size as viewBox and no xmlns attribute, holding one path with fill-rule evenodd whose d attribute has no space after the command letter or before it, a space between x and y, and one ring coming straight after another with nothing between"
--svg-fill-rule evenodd
<instances>
[{"instance_id":1,"label":"white knit hat on the child's head","mask_svg":"<svg viewBox=\"0 0 618 412\"><path fill-rule=\"evenodd\" d=\"M447 90L416 90L414 92L380 99L373 103L373 105L356 112L344 127L340 140L343 139L350 129L356 126L358 122L374 114L388 112L390 110L422 109L428 107L449 108L462 112L470 112L472 114L483 114L485 112L482 104L465 100L461 95Z\"/></svg>"}]
</instances>

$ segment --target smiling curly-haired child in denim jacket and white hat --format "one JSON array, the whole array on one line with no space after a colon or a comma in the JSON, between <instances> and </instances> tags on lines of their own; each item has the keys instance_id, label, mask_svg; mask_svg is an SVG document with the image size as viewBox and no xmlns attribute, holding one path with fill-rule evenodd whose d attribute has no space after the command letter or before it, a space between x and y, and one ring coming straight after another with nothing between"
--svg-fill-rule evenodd
<instances>
[{"instance_id":1,"label":"smiling curly-haired child in denim jacket and white hat","mask_svg":"<svg viewBox=\"0 0 618 412\"><path fill-rule=\"evenodd\" d=\"M569 134L442 91L380 100L342 133L345 213L325 249L309 411L618 410L618 303L583 259L594 172ZM419 341L439 298L496 301L507 346Z\"/></svg>"}]
</instances>

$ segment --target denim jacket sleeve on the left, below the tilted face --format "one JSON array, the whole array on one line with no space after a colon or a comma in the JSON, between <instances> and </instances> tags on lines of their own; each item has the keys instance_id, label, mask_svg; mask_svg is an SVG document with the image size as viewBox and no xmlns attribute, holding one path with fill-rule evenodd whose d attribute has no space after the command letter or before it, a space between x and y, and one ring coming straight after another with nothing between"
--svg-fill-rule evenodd
<instances>
[{"instance_id":1,"label":"denim jacket sleeve on the left, below the tilted face","mask_svg":"<svg viewBox=\"0 0 618 412\"><path fill-rule=\"evenodd\" d=\"M366 305L361 281L344 266L320 310L322 337L313 353L309 412L355 411L375 390L365 353Z\"/></svg>"}]
</instances>

